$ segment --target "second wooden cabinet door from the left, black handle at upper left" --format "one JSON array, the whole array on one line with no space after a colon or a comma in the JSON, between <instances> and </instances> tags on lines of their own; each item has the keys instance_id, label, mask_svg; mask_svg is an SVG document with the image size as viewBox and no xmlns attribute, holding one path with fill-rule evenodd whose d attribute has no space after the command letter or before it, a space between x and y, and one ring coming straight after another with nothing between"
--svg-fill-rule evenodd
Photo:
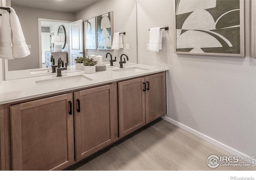
<instances>
[{"instance_id":1,"label":"second wooden cabinet door from the left, black handle at upper left","mask_svg":"<svg viewBox=\"0 0 256 180\"><path fill-rule=\"evenodd\" d=\"M76 160L114 141L113 85L74 92Z\"/></svg>"}]
</instances>

